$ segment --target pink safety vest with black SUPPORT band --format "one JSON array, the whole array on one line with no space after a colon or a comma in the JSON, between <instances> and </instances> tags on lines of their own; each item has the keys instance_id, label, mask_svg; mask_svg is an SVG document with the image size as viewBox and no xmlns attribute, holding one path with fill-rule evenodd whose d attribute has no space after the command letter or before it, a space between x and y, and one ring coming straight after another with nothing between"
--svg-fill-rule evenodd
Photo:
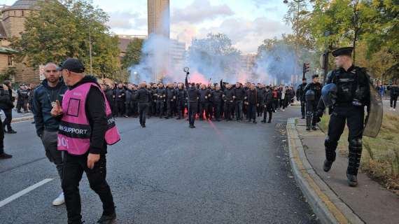
<instances>
[{"instance_id":1,"label":"pink safety vest with black SUPPORT band","mask_svg":"<svg viewBox=\"0 0 399 224\"><path fill-rule=\"evenodd\" d=\"M92 133L89 120L86 117L86 97L90 87L98 87L97 83L84 83L73 90L66 90L62 99L63 116L58 130L58 150L68 151L72 155L83 155L90 147ZM101 89L100 89L101 90ZM106 144L113 145L120 140L120 134L112 117L109 102L101 90L106 109L108 130L105 134Z\"/></svg>"}]
</instances>

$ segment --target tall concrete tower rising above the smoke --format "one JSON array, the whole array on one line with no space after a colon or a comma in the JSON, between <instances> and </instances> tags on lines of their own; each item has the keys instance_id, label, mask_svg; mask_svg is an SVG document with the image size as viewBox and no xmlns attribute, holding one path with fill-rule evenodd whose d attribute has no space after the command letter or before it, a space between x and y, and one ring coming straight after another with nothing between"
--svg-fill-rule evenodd
<instances>
[{"instance_id":1,"label":"tall concrete tower rising above the smoke","mask_svg":"<svg viewBox=\"0 0 399 224\"><path fill-rule=\"evenodd\" d=\"M148 0L148 36L170 36L169 0Z\"/></svg>"}]
</instances>

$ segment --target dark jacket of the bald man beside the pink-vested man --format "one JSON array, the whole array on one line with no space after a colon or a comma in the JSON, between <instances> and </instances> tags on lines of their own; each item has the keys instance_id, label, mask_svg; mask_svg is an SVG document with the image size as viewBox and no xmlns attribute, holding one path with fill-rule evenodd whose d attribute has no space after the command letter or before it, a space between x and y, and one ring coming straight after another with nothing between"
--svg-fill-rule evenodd
<instances>
[{"instance_id":1,"label":"dark jacket of the bald man beside the pink-vested man","mask_svg":"<svg viewBox=\"0 0 399 224\"><path fill-rule=\"evenodd\" d=\"M56 87L50 87L47 79L43 80L41 85L36 87L33 93L32 109L36 125L36 133L40 137L43 131L57 132L59 120L53 118L50 114L52 102L58 100L62 103L62 97L66 92L66 85L62 79L59 80Z\"/></svg>"}]
</instances>

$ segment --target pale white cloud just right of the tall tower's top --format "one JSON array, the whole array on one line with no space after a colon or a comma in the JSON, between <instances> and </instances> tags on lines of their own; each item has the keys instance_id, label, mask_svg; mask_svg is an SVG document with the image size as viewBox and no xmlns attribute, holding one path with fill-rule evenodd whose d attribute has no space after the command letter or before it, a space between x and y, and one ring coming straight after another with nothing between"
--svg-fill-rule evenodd
<instances>
[{"instance_id":1,"label":"pale white cloud just right of the tall tower's top","mask_svg":"<svg viewBox=\"0 0 399 224\"><path fill-rule=\"evenodd\" d=\"M195 0L185 8L176 8L172 14L172 23L201 23L234 14L227 4L212 6L209 0Z\"/></svg>"}]
</instances>

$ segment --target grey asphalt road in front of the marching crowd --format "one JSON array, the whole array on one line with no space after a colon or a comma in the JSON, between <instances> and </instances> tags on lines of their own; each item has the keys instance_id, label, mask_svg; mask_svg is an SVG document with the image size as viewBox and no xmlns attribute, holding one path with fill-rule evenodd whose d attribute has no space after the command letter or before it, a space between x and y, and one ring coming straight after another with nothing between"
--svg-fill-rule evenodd
<instances>
[{"instance_id":1,"label":"grey asphalt road in front of the marching crowd","mask_svg":"<svg viewBox=\"0 0 399 224\"><path fill-rule=\"evenodd\" d=\"M109 147L107 179L118 223L317 223L288 164L285 128L299 108L276 113L272 124L118 118L123 140ZM258 120L260 121L260 120ZM0 207L0 223L66 223L55 166L45 158L30 122L13 124L0 160L0 204L44 179L53 179ZM95 223L102 204L80 183L83 218Z\"/></svg>"}]
</instances>

